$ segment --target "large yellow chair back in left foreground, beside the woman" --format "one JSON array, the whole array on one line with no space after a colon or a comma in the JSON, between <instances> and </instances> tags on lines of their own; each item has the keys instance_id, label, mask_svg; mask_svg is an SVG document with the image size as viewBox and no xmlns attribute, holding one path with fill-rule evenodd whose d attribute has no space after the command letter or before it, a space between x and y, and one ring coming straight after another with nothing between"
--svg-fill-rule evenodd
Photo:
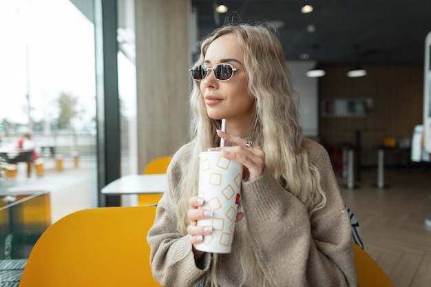
<instances>
[{"instance_id":1,"label":"large yellow chair back in left foreground, beside the woman","mask_svg":"<svg viewBox=\"0 0 431 287\"><path fill-rule=\"evenodd\" d=\"M147 231L156 206L77 211L34 245L19 287L160 286L149 265Z\"/></svg>"}]
</instances>

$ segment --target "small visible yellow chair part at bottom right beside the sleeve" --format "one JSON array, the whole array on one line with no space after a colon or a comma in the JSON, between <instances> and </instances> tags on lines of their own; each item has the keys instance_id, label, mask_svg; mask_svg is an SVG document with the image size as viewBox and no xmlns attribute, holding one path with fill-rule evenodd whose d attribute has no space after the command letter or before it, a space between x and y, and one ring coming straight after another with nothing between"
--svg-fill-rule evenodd
<instances>
[{"instance_id":1,"label":"small visible yellow chair part at bottom right beside the sleeve","mask_svg":"<svg viewBox=\"0 0 431 287\"><path fill-rule=\"evenodd\" d=\"M359 287L394 287L379 264L355 243L353 244L353 255Z\"/></svg>"}]
</instances>

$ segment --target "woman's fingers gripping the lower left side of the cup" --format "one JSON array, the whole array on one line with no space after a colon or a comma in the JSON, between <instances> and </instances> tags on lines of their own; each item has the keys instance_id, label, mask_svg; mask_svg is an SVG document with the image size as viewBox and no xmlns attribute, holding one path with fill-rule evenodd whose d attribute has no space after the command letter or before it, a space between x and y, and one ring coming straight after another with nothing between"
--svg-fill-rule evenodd
<instances>
[{"instance_id":1,"label":"woman's fingers gripping the lower left side of the cup","mask_svg":"<svg viewBox=\"0 0 431 287\"><path fill-rule=\"evenodd\" d=\"M192 244L198 244L203 241L204 235L209 235L213 232L211 226L198 226L198 221L206 218L211 218L213 215L211 210L202 209L204 199L194 196L190 198L189 205L191 209L187 212L189 218L189 226L187 226L187 233L190 235L190 242Z\"/></svg>"}]
</instances>

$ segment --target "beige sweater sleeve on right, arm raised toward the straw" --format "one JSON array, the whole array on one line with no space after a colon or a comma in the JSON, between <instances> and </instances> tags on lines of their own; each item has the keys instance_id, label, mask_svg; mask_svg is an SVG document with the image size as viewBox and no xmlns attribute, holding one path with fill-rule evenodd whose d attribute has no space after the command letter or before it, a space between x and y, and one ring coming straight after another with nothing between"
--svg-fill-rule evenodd
<instances>
[{"instance_id":1,"label":"beige sweater sleeve on right, arm raised toward the straw","mask_svg":"<svg viewBox=\"0 0 431 287\"><path fill-rule=\"evenodd\" d=\"M326 150L308 152L319 169L326 206L306 206L269 171L243 182L242 202L257 262L271 286L357 286L352 232Z\"/></svg>"}]
</instances>

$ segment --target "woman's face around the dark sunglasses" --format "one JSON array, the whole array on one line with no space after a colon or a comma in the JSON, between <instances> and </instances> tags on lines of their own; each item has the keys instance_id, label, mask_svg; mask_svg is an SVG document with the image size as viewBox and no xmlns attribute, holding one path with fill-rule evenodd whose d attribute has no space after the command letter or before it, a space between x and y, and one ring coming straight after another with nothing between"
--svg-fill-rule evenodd
<instances>
[{"instance_id":1,"label":"woman's face around the dark sunglasses","mask_svg":"<svg viewBox=\"0 0 431 287\"><path fill-rule=\"evenodd\" d=\"M215 39L208 47L204 65L214 67L220 63L229 63L239 71L227 81L219 81L211 71L207 78L200 81L200 90L204 96L209 118L227 123L253 122L255 103L247 91L247 73L245 71L244 52L238 45L234 34L226 34Z\"/></svg>"}]
</instances>

